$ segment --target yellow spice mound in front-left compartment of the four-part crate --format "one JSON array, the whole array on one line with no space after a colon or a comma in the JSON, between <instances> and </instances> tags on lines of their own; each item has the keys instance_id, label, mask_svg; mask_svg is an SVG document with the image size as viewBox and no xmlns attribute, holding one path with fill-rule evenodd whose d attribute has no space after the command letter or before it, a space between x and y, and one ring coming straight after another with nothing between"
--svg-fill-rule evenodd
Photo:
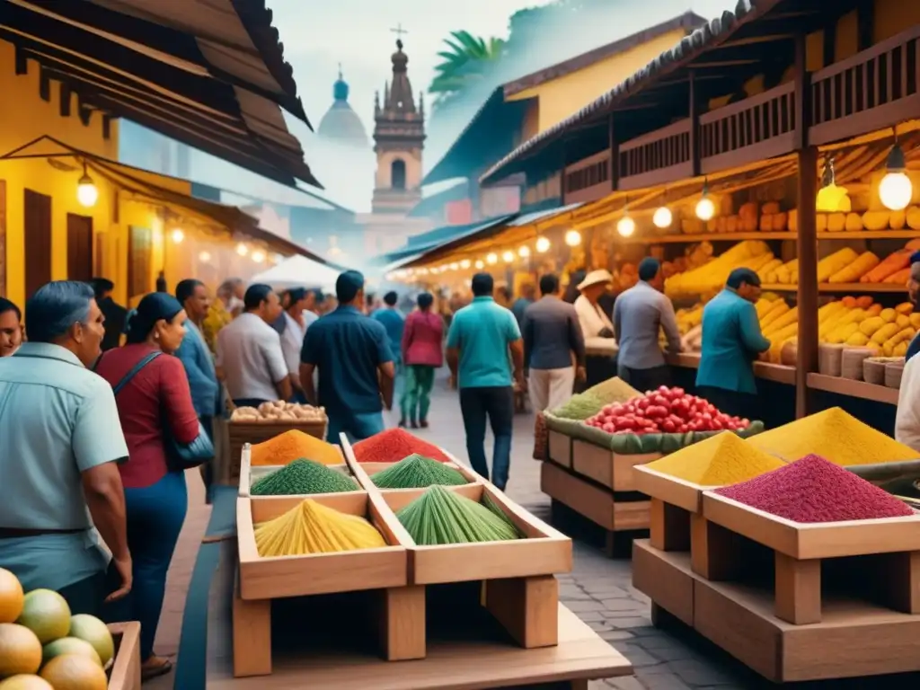
<instances>
[{"instance_id":1,"label":"yellow spice mound in front-left compartment of the four-part crate","mask_svg":"<svg viewBox=\"0 0 920 690\"><path fill-rule=\"evenodd\" d=\"M358 515L307 499L274 520L256 525L259 556L304 556L382 548L384 537Z\"/></svg>"}]
</instances>

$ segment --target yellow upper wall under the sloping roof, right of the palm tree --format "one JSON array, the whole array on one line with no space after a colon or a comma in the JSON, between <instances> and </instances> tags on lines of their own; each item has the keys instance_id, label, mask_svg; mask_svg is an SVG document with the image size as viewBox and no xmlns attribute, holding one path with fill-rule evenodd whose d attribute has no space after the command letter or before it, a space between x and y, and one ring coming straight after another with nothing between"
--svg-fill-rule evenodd
<instances>
[{"instance_id":1,"label":"yellow upper wall under the sloping roof, right of the palm tree","mask_svg":"<svg viewBox=\"0 0 920 690\"><path fill-rule=\"evenodd\" d=\"M684 38L684 35L684 29L674 29L632 50L611 55L569 75L525 89L509 97L508 100L539 98L538 127L539 132L545 132L554 124L565 120L572 113L601 97L627 76L637 72L658 57L661 52L673 48L678 41Z\"/></svg>"}]
</instances>

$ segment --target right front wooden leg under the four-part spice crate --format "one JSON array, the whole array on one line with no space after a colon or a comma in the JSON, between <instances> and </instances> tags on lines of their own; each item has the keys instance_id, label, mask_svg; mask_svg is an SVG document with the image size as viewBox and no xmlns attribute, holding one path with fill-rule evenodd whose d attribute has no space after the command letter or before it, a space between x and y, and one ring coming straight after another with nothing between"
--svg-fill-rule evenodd
<instances>
[{"instance_id":1,"label":"right front wooden leg under the four-part spice crate","mask_svg":"<svg viewBox=\"0 0 920 690\"><path fill-rule=\"evenodd\" d=\"M552 575L489 580L486 608L522 647L558 644L559 583Z\"/></svg>"}]
</instances>

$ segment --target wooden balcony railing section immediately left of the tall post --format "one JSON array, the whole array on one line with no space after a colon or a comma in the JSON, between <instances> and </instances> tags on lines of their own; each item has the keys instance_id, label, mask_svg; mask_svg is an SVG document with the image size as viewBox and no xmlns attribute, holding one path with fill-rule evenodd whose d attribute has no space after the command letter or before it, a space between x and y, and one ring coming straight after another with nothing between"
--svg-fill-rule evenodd
<instances>
[{"instance_id":1,"label":"wooden balcony railing section immediately left of the tall post","mask_svg":"<svg viewBox=\"0 0 920 690\"><path fill-rule=\"evenodd\" d=\"M793 82L700 115L700 172L791 153L796 126Z\"/></svg>"}]
</instances>

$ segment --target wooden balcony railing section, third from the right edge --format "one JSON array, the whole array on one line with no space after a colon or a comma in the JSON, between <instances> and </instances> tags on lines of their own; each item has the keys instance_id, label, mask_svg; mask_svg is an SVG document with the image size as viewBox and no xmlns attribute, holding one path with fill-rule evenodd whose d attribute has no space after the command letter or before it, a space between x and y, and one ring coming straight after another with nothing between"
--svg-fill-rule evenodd
<instances>
[{"instance_id":1,"label":"wooden balcony railing section, third from the right edge","mask_svg":"<svg viewBox=\"0 0 920 690\"><path fill-rule=\"evenodd\" d=\"M637 190L691 176L690 119L620 144L617 158L620 190Z\"/></svg>"}]
</instances>

